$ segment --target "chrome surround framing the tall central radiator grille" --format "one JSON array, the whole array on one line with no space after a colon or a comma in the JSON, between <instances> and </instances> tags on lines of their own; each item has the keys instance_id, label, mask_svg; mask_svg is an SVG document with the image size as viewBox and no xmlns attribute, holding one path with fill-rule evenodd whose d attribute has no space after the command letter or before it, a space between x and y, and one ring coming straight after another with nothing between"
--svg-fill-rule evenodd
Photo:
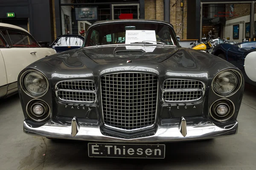
<instances>
[{"instance_id":1,"label":"chrome surround framing the tall central radiator grille","mask_svg":"<svg viewBox=\"0 0 256 170\"><path fill-rule=\"evenodd\" d=\"M102 99L102 87L101 87L101 78L102 76L107 76L107 75L111 75L111 74L122 74L122 73L137 73L137 74L151 74L151 75L154 75L157 77L157 103L156 103L156 112L155 112L155 120L154 120L154 123L150 126L146 126L146 127L141 127L141 128L137 128L137 129L132 129L132 130L125 130L125 129L121 129L121 128L118 128L118 127L113 127L113 126L110 126L110 125L107 125L104 121L104 113L103 113L103 104L102 104L102 100L100 102L101 104L101 109L102 109L102 122L103 122L103 125L105 127L109 127L109 128L112 128L112 129L116 129L116 130L119 130L121 132L136 132L136 131L140 131L140 130L147 130L151 127L153 127L154 125L156 125L156 122L157 122L157 111L158 111L158 96L159 96L159 77L157 76L157 74L152 74L152 73L147 73L147 72L133 72L133 71L128 71L128 72L113 72L113 73L110 73L110 74L102 74L99 78L100 82L100 97Z\"/></svg>"}]
</instances>

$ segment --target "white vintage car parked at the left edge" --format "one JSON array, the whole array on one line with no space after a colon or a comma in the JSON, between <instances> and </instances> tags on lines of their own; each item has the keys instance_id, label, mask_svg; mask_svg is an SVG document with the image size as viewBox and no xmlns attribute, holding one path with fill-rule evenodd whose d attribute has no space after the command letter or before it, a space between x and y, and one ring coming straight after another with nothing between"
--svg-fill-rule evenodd
<instances>
[{"instance_id":1,"label":"white vintage car parked at the left edge","mask_svg":"<svg viewBox=\"0 0 256 170\"><path fill-rule=\"evenodd\" d=\"M25 29L0 23L0 98L17 92L23 68L52 54L54 49L42 48Z\"/></svg>"}]
</instances>

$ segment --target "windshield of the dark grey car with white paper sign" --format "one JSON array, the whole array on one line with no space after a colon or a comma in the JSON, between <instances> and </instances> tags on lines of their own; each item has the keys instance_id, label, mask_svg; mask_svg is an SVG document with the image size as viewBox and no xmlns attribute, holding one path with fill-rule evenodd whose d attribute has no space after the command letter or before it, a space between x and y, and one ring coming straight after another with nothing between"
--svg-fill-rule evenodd
<instances>
[{"instance_id":1,"label":"windshield of the dark grey car with white paper sign","mask_svg":"<svg viewBox=\"0 0 256 170\"><path fill-rule=\"evenodd\" d=\"M123 22L92 27L87 32L83 47L131 43L179 45L173 28L166 24Z\"/></svg>"}]
</instances>

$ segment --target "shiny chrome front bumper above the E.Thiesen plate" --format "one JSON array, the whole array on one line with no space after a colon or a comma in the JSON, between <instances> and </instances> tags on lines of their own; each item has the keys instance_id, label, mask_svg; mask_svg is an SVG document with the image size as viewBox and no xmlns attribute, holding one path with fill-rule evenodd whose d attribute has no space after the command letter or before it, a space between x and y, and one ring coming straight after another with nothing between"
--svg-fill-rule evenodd
<instances>
[{"instance_id":1,"label":"shiny chrome front bumper above the E.Thiesen plate","mask_svg":"<svg viewBox=\"0 0 256 170\"><path fill-rule=\"evenodd\" d=\"M58 123L57 123L58 122ZM221 136L235 135L238 130L238 122L236 120L226 124L215 124L205 118L180 119L179 123L162 121L158 125L156 133L153 136L122 139L116 137L105 136L101 133L100 125L79 123L76 117L71 124L60 123L59 121L49 121L40 127L32 127L29 121L23 123L24 133L45 136L49 138L76 139L100 142L171 142L209 139Z\"/></svg>"}]
</instances>

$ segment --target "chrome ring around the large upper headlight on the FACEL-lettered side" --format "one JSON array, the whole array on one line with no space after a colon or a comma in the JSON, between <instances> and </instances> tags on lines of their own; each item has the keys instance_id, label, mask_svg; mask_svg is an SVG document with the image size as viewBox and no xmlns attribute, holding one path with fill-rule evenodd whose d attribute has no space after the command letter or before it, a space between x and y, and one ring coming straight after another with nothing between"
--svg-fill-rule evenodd
<instances>
[{"instance_id":1,"label":"chrome ring around the large upper headlight on the FACEL-lettered side","mask_svg":"<svg viewBox=\"0 0 256 170\"><path fill-rule=\"evenodd\" d=\"M46 81L47 81L47 89L45 90L45 92L44 92L43 94L38 95L38 96L29 93L29 91L26 90L26 88L25 88L25 86L24 86L24 83L23 83L23 82L24 82L23 80L25 79L25 76L24 76L24 75L27 75L27 74L29 74L29 72L32 72L32 71L35 71L35 72L38 72L38 73L42 74L43 77L44 77L44 78L46 79ZM46 77L41 71L38 71L38 70L27 70L27 71L24 71L24 72L21 74L21 76L20 76L20 87L21 87L22 91L24 91L24 93L26 93L28 96L30 96L30 97L32 97L32 98L34 98L34 99L38 99L38 98L44 96L44 95L47 93L47 91L49 90L49 82L48 82L47 77Z\"/></svg>"}]
</instances>

